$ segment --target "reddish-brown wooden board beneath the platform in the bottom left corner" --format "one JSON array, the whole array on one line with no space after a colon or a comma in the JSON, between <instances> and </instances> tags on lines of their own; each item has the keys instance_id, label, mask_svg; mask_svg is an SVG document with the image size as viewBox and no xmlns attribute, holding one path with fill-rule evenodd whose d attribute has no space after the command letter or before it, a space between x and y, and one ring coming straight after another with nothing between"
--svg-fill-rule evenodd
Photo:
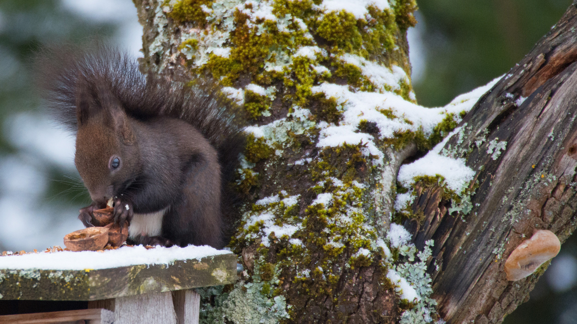
<instances>
[{"instance_id":1,"label":"reddish-brown wooden board beneath the platform in the bottom left corner","mask_svg":"<svg viewBox=\"0 0 577 324\"><path fill-rule=\"evenodd\" d=\"M74 310L59 312L39 312L35 314L18 314L0 316L0 323L6 324L51 324L51 323L88 323L112 324L114 314L102 308L91 310ZM160 323L160 322L159 322Z\"/></svg>"}]
</instances>

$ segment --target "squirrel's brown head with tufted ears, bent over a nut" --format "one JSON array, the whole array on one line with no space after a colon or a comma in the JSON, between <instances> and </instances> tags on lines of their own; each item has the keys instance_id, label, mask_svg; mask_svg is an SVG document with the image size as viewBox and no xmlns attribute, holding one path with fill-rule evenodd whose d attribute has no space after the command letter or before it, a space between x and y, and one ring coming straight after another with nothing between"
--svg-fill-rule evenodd
<instances>
[{"instance_id":1,"label":"squirrel's brown head with tufted ears, bent over a nut","mask_svg":"<svg viewBox=\"0 0 577 324\"><path fill-rule=\"evenodd\" d=\"M103 85L78 77L74 164L93 201L103 205L140 172L140 154L131 120L122 103Z\"/></svg>"}]
</instances>

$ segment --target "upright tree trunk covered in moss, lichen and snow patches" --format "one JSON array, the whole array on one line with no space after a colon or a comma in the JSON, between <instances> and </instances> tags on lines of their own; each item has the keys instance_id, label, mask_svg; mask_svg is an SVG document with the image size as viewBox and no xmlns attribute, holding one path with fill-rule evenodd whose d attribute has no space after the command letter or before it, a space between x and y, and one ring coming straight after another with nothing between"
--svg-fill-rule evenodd
<instances>
[{"instance_id":1,"label":"upright tree trunk covered in moss, lichen and snow patches","mask_svg":"<svg viewBox=\"0 0 577 324\"><path fill-rule=\"evenodd\" d=\"M230 242L246 270L231 287L199 290L201 322L443 323L426 273L439 244L417 250L391 220L414 218L407 204L437 173L443 206L467 212L477 169L437 146L435 163L413 164L399 185L397 174L497 80L445 107L418 106L406 40L414 0L134 3L145 73L211 77L251 119Z\"/></svg>"}]
</instances>

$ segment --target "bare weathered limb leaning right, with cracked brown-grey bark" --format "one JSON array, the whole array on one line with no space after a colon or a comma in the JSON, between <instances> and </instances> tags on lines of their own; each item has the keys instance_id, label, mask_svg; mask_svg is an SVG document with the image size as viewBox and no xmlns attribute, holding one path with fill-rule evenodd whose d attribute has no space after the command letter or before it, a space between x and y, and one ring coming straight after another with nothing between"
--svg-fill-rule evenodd
<instances>
[{"instance_id":1,"label":"bare weathered limb leaning right, with cracked brown-grey bark","mask_svg":"<svg viewBox=\"0 0 577 324\"><path fill-rule=\"evenodd\" d=\"M477 171L473 210L449 215L450 202L438 187L417 188L413 210L424 213L424 222L405 225L418 248L434 239L428 269L438 310L449 323L503 321L528 299L548 265L507 281L503 269L511 251L537 229L564 242L577 227L576 28L574 2L445 145ZM489 147L497 142L506 142L500 155Z\"/></svg>"}]
</instances>

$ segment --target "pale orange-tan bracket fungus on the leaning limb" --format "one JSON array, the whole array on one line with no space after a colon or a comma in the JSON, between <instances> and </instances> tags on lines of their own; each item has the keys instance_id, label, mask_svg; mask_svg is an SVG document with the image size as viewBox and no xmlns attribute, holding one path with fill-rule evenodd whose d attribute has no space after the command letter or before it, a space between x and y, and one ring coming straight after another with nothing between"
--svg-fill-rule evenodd
<instances>
[{"instance_id":1,"label":"pale orange-tan bracket fungus on the leaning limb","mask_svg":"<svg viewBox=\"0 0 577 324\"><path fill-rule=\"evenodd\" d=\"M536 231L513 250L505 262L507 280L517 281L529 276L546 261L554 258L561 248L559 238L546 229Z\"/></svg>"}]
</instances>

